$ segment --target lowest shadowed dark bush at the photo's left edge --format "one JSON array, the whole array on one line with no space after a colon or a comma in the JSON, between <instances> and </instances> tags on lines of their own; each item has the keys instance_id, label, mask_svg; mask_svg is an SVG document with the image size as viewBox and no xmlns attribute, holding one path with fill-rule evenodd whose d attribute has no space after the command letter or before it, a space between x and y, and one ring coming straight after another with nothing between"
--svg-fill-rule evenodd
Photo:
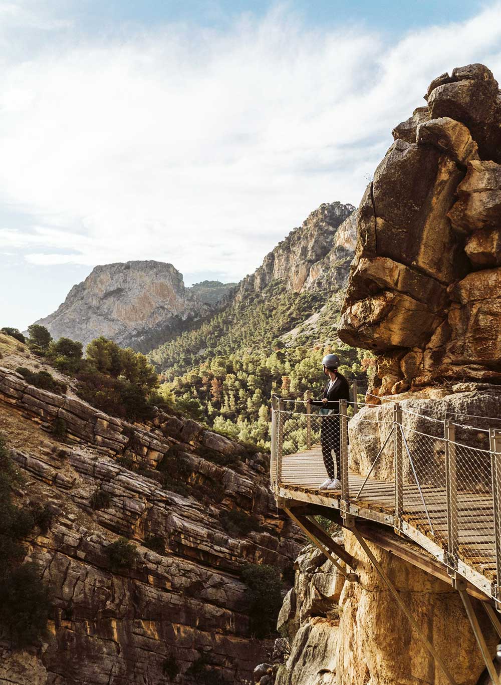
<instances>
[{"instance_id":1,"label":"lowest shadowed dark bush at the photo's left edge","mask_svg":"<svg viewBox=\"0 0 501 685\"><path fill-rule=\"evenodd\" d=\"M0 625L15 647L34 645L44 636L51 608L34 564L14 568L0 584Z\"/></svg>"}]
</instances>

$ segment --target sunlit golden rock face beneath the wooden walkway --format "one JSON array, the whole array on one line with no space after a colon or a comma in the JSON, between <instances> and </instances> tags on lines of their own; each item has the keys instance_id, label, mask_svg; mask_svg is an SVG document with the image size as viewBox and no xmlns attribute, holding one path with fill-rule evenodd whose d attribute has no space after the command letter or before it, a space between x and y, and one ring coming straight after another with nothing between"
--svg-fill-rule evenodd
<instances>
[{"instance_id":1,"label":"sunlit golden rock face beneath the wooden walkway","mask_svg":"<svg viewBox=\"0 0 501 685\"><path fill-rule=\"evenodd\" d=\"M455 682L476 685L485 666L458 593L450 584L368 544ZM360 583L344 582L311 546L296 560L296 582L279 616L285 640L277 645L281 650L276 650L276 663L269 669L276 673L275 685L446 685L444 673L435 667L349 532L344 533L344 546L358 560ZM496 635L484 620L485 612L476 610L489 648L495 649ZM273 675L263 677L272 682Z\"/></svg>"}]
</instances>

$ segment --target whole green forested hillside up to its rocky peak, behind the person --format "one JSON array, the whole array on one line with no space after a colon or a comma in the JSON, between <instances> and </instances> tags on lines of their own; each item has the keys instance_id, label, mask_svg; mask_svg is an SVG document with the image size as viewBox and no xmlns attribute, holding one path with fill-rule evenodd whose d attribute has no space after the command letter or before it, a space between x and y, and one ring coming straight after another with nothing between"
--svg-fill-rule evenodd
<instances>
[{"instance_id":1,"label":"whole green forested hillside up to its rocky peak, behind the person","mask_svg":"<svg viewBox=\"0 0 501 685\"><path fill-rule=\"evenodd\" d=\"M195 419L270 449L270 397L322 388L321 360L364 379L372 355L341 343L339 321L355 247L352 206L322 205L246 277L221 312L149 354L162 393Z\"/></svg>"}]
</instances>

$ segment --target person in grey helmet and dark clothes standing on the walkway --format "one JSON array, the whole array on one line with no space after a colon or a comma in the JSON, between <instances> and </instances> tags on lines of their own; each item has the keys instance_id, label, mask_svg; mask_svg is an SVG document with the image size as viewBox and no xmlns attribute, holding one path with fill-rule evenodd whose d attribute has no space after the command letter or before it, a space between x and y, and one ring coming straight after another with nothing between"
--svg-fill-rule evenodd
<instances>
[{"instance_id":1,"label":"person in grey helmet and dark clothes standing on the walkway","mask_svg":"<svg viewBox=\"0 0 501 685\"><path fill-rule=\"evenodd\" d=\"M322 359L324 375L328 381L320 400L308 401L313 406L320 406L322 419L320 423L320 445L325 470L329 476L320 485L321 490L340 490L341 481L341 427L339 425L339 400L350 399L348 381L337 371L339 357L337 354L326 354Z\"/></svg>"}]
</instances>

